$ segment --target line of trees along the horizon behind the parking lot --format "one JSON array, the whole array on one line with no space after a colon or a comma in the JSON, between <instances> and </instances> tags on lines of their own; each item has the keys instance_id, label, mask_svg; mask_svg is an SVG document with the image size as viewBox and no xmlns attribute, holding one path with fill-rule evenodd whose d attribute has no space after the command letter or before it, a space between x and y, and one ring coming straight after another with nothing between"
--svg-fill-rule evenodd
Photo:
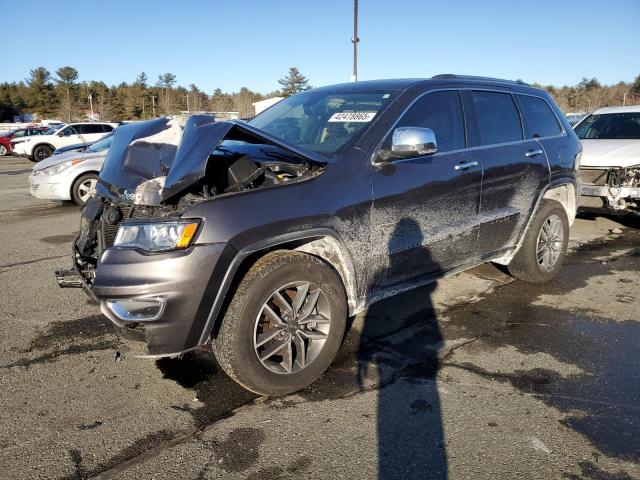
<instances>
[{"instance_id":1,"label":"line of trees along the horizon behind the parking lot","mask_svg":"<svg viewBox=\"0 0 640 480\"><path fill-rule=\"evenodd\" d=\"M188 87L177 84L172 73L158 76L151 84L145 72L131 83L107 85L103 81L78 81L78 71L70 66L57 69L52 75L44 67L29 72L22 82L0 83L0 122L12 122L14 116L33 113L40 118L64 121L87 119L93 107L103 120L142 120L183 111L238 112L251 117L253 102L274 96L289 96L311 88L307 78L296 67L278 80L281 88L268 93L254 92L246 87L237 92L216 88L210 94L194 83ZM633 82L602 85L596 78L583 78L574 86L534 86L544 88L564 112L590 112L609 105L640 104L640 75Z\"/></svg>"}]
</instances>

